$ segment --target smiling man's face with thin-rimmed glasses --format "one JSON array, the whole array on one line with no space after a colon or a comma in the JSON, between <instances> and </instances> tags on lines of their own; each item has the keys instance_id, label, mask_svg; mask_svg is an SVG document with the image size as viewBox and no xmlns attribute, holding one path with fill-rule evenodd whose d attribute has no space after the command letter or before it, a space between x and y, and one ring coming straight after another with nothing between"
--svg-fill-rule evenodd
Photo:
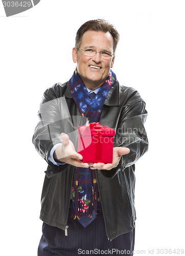
<instances>
[{"instance_id":1,"label":"smiling man's face with thin-rimmed glasses","mask_svg":"<svg viewBox=\"0 0 185 256\"><path fill-rule=\"evenodd\" d=\"M80 48L99 52L106 51L112 54L113 45L114 40L109 32L88 30L82 36ZM103 59L99 53L93 57L85 56L84 51L77 52L76 48L73 48L72 56L73 61L77 62L78 74L90 90L95 90L104 83L113 67L115 58L110 56L108 59Z\"/></svg>"}]
</instances>

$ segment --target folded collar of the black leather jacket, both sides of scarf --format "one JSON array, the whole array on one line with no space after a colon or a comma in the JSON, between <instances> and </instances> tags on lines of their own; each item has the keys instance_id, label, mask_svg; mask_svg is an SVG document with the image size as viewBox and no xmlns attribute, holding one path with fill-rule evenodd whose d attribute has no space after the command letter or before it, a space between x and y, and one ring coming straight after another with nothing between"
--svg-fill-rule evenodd
<instances>
[{"instance_id":1,"label":"folded collar of the black leather jacket, both sides of scarf","mask_svg":"<svg viewBox=\"0 0 185 256\"><path fill-rule=\"evenodd\" d=\"M68 82L66 83L67 89L64 96L67 98L72 98ZM119 82L116 81L105 99L104 105L108 106L119 106Z\"/></svg>"}]
</instances>

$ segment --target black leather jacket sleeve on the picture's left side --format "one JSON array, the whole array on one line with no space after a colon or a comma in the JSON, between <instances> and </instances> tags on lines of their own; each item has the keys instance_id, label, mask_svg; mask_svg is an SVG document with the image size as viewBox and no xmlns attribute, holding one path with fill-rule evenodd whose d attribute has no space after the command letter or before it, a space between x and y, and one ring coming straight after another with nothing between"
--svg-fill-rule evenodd
<instances>
[{"instance_id":1,"label":"black leather jacket sleeve on the picture's left side","mask_svg":"<svg viewBox=\"0 0 185 256\"><path fill-rule=\"evenodd\" d=\"M51 177L66 168L67 164L57 166L51 163L48 160L50 151L54 145L61 143L60 134L62 132L69 133L70 130L73 131L66 99L58 95L56 85L44 92L38 117L39 122L35 128L32 141L37 152L48 163L46 174Z\"/></svg>"}]
</instances>

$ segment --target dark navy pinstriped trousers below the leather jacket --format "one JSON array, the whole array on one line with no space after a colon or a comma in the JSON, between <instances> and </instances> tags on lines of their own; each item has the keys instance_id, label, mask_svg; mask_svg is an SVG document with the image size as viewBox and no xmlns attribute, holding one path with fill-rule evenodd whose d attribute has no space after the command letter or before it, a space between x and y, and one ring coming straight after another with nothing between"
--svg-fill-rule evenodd
<instances>
[{"instance_id":1,"label":"dark navy pinstriped trousers below the leather jacket","mask_svg":"<svg viewBox=\"0 0 185 256\"><path fill-rule=\"evenodd\" d=\"M110 242L101 213L98 213L96 219L86 228L70 217L68 218L68 226L66 237L64 230L43 223L38 256L133 255L135 229Z\"/></svg>"}]
</instances>

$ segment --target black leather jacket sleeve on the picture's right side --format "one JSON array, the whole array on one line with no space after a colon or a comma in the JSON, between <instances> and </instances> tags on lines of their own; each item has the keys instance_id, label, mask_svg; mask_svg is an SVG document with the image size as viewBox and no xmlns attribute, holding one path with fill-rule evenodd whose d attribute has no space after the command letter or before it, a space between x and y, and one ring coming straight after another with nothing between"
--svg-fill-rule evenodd
<instances>
[{"instance_id":1,"label":"black leather jacket sleeve on the picture's right side","mask_svg":"<svg viewBox=\"0 0 185 256\"><path fill-rule=\"evenodd\" d=\"M105 177L113 178L117 172L131 165L135 169L134 164L148 151L148 138L144 127L147 115L145 102L135 91L122 107L114 138L114 147L128 147L130 152L121 156L117 167L109 172L101 170Z\"/></svg>"}]
</instances>

